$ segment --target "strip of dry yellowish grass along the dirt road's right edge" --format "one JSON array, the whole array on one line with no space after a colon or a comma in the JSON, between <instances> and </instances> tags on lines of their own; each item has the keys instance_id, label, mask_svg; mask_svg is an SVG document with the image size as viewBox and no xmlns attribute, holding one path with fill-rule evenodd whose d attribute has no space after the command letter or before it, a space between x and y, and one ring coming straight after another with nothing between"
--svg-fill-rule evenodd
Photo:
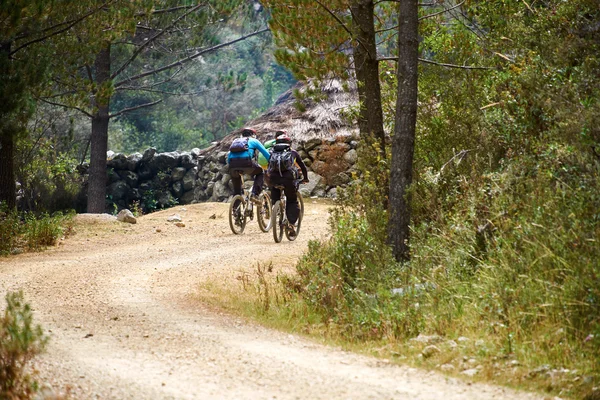
<instances>
[{"instance_id":1,"label":"strip of dry yellowish grass along the dirt road's right edge","mask_svg":"<svg viewBox=\"0 0 600 400\"><path fill-rule=\"evenodd\" d=\"M408 338L388 334L378 339L353 339L346 333L348 326L324 320L304 299L290 293L283 283L289 276L272 271L271 265L257 264L254 272L240 273L237 287L222 280L206 282L199 289L198 299L273 329L470 382L491 382L561 398L593 399L591 396L598 393L597 358L582 356L586 352L592 355L585 346L561 346L564 335L560 328L554 335L546 327L531 332L531 337L542 338L539 343L515 339L511 344L508 334L499 334L493 328L491 332L474 329L459 333L458 326L452 327L456 332L448 329L445 335L423 333ZM552 341L557 343L554 350L548 348ZM440 351L425 357L423 350L431 345ZM475 375L466 375L473 370L477 371Z\"/></svg>"}]
</instances>

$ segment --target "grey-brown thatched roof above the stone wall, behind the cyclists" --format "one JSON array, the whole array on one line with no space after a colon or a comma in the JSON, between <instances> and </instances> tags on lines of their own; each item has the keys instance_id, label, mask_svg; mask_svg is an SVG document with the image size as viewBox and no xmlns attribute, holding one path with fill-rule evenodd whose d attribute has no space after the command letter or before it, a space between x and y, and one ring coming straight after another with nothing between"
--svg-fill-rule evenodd
<instances>
[{"instance_id":1,"label":"grey-brown thatched roof above the stone wall, behind the cyclists","mask_svg":"<svg viewBox=\"0 0 600 400\"><path fill-rule=\"evenodd\" d=\"M305 87L299 84L288 90L271 109L246 123L245 127L256 130L258 139L262 142L272 139L277 130L285 130L295 142L358 135L356 123L349 121L344 115L350 106L357 104L355 89L346 90L342 82L331 80L321 87L325 100L303 100L305 111L302 112L298 110L294 90L304 91ZM241 129L231 132L207 150L227 150L232 140L240 134Z\"/></svg>"}]
</instances>

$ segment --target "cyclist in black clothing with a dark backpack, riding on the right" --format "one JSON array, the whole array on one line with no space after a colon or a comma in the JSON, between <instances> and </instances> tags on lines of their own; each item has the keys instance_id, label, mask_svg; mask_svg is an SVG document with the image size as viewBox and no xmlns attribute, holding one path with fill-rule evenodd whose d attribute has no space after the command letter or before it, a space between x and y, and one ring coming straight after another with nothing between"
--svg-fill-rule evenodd
<instances>
[{"instance_id":1,"label":"cyclist in black clothing with a dark backpack, riding on the right","mask_svg":"<svg viewBox=\"0 0 600 400\"><path fill-rule=\"evenodd\" d=\"M292 139L284 131L278 131L275 133L275 144L271 148L271 162L267 169L269 182L271 184L271 201L273 204L281 199L281 191L275 188L275 185L281 185L284 187L285 197L287 198L285 215L287 216L288 222L288 234L289 236L296 236L296 230L294 224L298 221L300 215L300 207L298 205L298 167L302 171L302 183L308 183L308 171L306 165L302 161L302 157L296 150L292 148ZM274 165L277 156L274 154L277 152L289 152L291 161L289 165L282 167L282 162L278 165Z\"/></svg>"}]
</instances>

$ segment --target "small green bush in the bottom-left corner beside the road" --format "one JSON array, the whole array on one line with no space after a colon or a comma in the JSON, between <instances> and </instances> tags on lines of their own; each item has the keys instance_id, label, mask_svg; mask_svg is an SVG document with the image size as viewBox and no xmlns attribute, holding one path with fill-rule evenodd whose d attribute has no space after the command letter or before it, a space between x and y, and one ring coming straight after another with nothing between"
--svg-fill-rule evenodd
<instances>
[{"instance_id":1,"label":"small green bush in the bottom-left corner beside the road","mask_svg":"<svg viewBox=\"0 0 600 400\"><path fill-rule=\"evenodd\" d=\"M32 399L38 383L31 375L31 363L44 351L48 338L33 324L33 313L23 293L8 293L6 302L0 318L0 398Z\"/></svg>"}]
</instances>

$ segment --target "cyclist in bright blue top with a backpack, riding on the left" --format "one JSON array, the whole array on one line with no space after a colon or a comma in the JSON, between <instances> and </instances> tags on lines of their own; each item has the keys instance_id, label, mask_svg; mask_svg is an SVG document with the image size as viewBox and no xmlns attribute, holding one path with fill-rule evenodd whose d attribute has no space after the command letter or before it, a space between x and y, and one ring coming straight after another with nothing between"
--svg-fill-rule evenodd
<instances>
[{"instance_id":1,"label":"cyclist in bright blue top with a backpack, riding on the left","mask_svg":"<svg viewBox=\"0 0 600 400\"><path fill-rule=\"evenodd\" d=\"M241 146L241 147L240 147ZM235 139L229 148L227 156L227 164L229 164L229 174L233 183L233 194L242 194L242 177L243 174L251 175L254 178L250 199L253 202L258 202L258 195L262 192L264 183L264 172L260 165L256 162L256 151L259 151L267 160L270 155L262 143L256 139L256 131L250 128L242 130L241 137Z\"/></svg>"}]
</instances>

